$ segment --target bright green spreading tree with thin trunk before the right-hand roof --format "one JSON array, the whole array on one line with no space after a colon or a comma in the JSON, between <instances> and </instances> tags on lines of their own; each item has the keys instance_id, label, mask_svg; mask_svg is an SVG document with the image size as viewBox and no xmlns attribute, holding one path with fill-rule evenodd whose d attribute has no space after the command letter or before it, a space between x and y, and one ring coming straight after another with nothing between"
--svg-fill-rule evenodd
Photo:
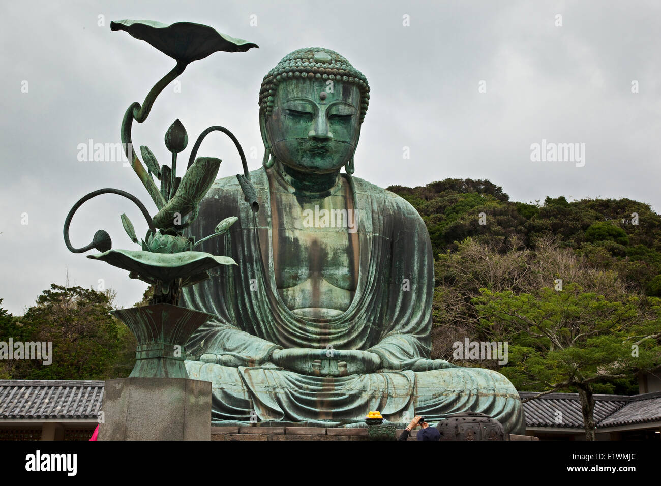
<instances>
[{"instance_id":1,"label":"bright green spreading tree with thin trunk before the right-hand roof","mask_svg":"<svg viewBox=\"0 0 661 486\"><path fill-rule=\"evenodd\" d=\"M518 389L578 391L587 440L594 440L594 393L661 369L657 298L605 298L570 283L535 294L481 289L474 302L482 325L498 327L509 342L508 365L500 371Z\"/></svg>"}]
</instances>

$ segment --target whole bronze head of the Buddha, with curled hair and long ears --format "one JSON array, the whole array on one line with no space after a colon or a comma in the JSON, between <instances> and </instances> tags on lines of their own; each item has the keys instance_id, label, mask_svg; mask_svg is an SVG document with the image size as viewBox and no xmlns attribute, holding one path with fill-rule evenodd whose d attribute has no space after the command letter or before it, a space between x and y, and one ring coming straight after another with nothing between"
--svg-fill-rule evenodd
<instances>
[{"instance_id":1,"label":"whole bronze head of the Buddha, with curled hair and long ears","mask_svg":"<svg viewBox=\"0 0 661 486\"><path fill-rule=\"evenodd\" d=\"M264 166L277 159L305 173L332 173L343 165L352 173L368 100L367 79L336 52L292 52L262 82Z\"/></svg>"}]
</instances>

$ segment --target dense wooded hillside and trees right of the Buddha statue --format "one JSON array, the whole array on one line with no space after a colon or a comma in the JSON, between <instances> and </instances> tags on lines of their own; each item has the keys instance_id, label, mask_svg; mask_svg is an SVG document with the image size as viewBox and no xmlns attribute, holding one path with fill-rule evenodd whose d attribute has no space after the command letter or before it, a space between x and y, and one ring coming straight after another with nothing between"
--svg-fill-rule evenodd
<instances>
[{"instance_id":1,"label":"dense wooded hillside and trees right of the Buddha statue","mask_svg":"<svg viewBox=\"0 0 661 486\"><path fill-rule=\"evenodd\" d=\"M432 240L432 358L452 361L465 338L507 342L504 368L477 365L518 389L577 391L592 439L593 394L635 393L637 374L659 368L661 218L648 204L511 202L471 179L389 189L418 210Z\"/></svg>"}]
</instances>

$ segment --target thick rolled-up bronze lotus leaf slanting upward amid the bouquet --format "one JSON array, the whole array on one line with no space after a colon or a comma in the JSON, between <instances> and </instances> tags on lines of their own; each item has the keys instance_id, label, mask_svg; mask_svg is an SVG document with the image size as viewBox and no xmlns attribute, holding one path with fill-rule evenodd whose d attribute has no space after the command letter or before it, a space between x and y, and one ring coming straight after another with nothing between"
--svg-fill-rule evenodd
<instances>
[{"instance_id":1,"label":"thick rolled-up bronze lotus leaf slanting upward amid the bouquet","mask_svg":"<svg viewBox=\"0 0 661 486\"><path fill-rule=\"evenodd\" d=\"M200 204L218 174L221 160L215 157L198 157L181 178L175 196L163 206L153 222L156 227L168 228L174 225L175 215L184 218ZM163 177L165 177L163 166Z\"/></svg>"}]
</instances>

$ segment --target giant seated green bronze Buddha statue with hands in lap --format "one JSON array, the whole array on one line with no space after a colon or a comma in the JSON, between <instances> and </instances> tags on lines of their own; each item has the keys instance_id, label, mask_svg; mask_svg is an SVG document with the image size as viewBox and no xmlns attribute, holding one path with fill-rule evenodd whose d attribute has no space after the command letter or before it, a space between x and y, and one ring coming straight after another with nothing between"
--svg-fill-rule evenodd
<instances>
[{"instance_id":1,"label":"giant seated green bronze Buddha statue with hands in lap","mask_svg":"<svg viewBox=\"0 0 661 486\"><path fill-rule=\"evenodd\" d=\"M264 167L251 172L260 211L241 181L220 179L190 235L236 214L202 249L237 266L182 291L216 317L187 344L191 378L213 383L213 423L434 423L477 411L525 429L502 374L430 360L434 262L424 222L392 192L354 172L366 114L365 77L336 52L298 50L264 78ZM340 173L345 167L346 174Z\"/></svg>"}]
</instances>

